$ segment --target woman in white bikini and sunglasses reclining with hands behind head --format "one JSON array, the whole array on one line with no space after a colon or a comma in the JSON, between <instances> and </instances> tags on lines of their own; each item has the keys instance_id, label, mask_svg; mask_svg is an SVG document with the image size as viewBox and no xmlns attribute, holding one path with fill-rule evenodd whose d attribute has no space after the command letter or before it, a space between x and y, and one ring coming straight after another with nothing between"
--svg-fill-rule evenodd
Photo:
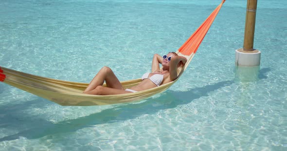
<instances>
[{"instance_id":1,"label":"woman in white bikini and sunglasses reclining with hands behind head","mask_svg":"<svg viewBox=\"0 0 287 151\"><path fill-rule=\"evenodd\" d=\"M142 82L130 89L124 89L119 79L109 67L103 67L91 80L87 89L83 92L95 95L125 94L155 88L178 78L177 69L186 63L186 58L178 56L175 52L160 56L155 54L152 60L151 73L145 73ZM160 69L160 63L162 69ZM106 81L107 87L103 84Z\"/></svg>"}]
</instances>

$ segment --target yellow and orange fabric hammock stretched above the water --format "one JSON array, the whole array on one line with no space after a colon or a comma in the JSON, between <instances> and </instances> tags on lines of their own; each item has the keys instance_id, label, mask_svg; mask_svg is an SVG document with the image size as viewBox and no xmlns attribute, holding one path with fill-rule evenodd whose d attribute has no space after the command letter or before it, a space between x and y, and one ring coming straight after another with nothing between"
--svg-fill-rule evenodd
<instances>
[{"instance_id":1,"label":"yellow and orange fabric hammock stretched above the water","mask_svg":"<svg viewBox=\"0 0 287 151\"><path fill-rule=\"evenodd\" d=\"M212 14L199 26L199 28L177 51L179 56L186 57L187 59L185 66L178 69L179 76L182 75L183 71L187 68L188 64L194 57L199 45L201 44L204 36L209 30L215 16L218 14L224 2L225 0L222 0ZM1 82L14 86L23 91L33 93L61 106L99 106L139 101L167 90L178 79L179 77L172 82L144 91L117 95L90 95L82 93L89 85L88 83L57 80L0 67ZM122 81L121 84L125 89L127 89L137 85L141 81L142 79L138 78ZM104 86L106 85L104 84Z\"/></svg>"}]
</instances>

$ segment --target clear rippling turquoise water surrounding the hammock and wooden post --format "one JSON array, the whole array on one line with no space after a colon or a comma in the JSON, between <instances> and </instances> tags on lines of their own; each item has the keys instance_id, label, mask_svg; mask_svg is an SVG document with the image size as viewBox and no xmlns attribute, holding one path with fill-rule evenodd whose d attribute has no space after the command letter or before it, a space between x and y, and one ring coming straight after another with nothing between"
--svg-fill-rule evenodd
<instances>
[{"instance_id":1,"label":"clear rippling turquoise water surrounding the hammock and wooden post","mask_svg":"<svg viewBox=\"0 0 287 151\"><path fill-rule=\"evenodd\" d=\"M0 1L0 66L90 82L120 80L176 51L221 0ZM137 103L59 106L0 83L0 151L287 150L287 1L258 0L258 80L235 79L246 1L227 0L169 90Z\"/></svg>"}]
</instances>

